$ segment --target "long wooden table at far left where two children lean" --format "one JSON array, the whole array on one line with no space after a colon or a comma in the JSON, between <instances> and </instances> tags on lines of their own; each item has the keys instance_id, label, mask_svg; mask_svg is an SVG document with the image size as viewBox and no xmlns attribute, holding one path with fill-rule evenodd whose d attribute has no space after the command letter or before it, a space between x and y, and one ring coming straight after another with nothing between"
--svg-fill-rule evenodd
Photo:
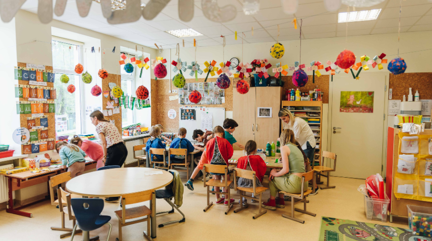
<instances>
[{"instance_id":1,"label":"long wooden table at far left where two children lean","mask_svg":"<svg viewBox=\"0 0 432 241\"><path fill-rule=\"evenodd\" d=\"M84 171L91 170L96 168L96 162L89 158L85 158L85 169ZM50 168L49 171L45 172L38 172L38 173L32 173L32 171L25 171L25 172L19 172L14 174L3 174L0 173L0 175L3 175L8 178L8 202L7 202L7 208L6 211L9 213L14 213L17 215L25 216L25 217L33 217L32 213L29 212L23 212L20 211L20 209L28 207L30 205L33 205L35 203L44 201L46 199L49 199L49 191L48 196L45 197L45 199L35 201L32 203L28 203L26 205L22 205L20 207L14 208L14 199L12 196L13 191L20 190L26 187L34 186L40 183L48 183L48 180L51 178L52 175L58 175L61 173L61 171L66 170L67 168ZM48 188L51 188L48 186Z\"/></svg>"}]
</instances>

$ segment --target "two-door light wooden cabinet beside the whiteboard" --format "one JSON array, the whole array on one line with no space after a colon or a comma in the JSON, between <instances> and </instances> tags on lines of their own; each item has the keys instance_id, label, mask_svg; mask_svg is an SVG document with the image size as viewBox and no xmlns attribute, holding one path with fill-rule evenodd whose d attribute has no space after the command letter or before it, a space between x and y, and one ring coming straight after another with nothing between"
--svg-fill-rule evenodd
<instances>
[{"instance_id":1,"label":"two-door light wooden cabinet beside the whiteboard","mask_svg":"<svg viewBox=\"0 0 432 241\"><path fill-rule=\"evenodd\" d=\"M234 137L242 145L254 140L258 149L265 149L267 142L275 142L280 134L278 112L281 106L282 87L251 87L246 94L234 88L233 118L239 124ZM258 116L258 107L271 107L272 117ZM238 150L234 146L234 150Z\"/></svg>"}]
</instances>

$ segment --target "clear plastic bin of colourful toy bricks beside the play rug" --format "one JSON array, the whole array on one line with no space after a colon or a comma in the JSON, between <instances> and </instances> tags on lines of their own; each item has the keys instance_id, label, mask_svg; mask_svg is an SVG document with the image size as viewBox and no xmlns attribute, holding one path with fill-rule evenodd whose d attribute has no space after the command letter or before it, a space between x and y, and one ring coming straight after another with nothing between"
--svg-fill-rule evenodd
<instances>
[{"instance_id":1,"label":"clear plastic bin of colourful toy bricks beside the play rug","mask_svg":"<svg viewBox=\"0 0 432 241\"><path fill-rule=\"evenodd\" d=\"M406 205L408 208L408 226L415 235L432 236L432 207Z\"/></svg>"}]
</instances>

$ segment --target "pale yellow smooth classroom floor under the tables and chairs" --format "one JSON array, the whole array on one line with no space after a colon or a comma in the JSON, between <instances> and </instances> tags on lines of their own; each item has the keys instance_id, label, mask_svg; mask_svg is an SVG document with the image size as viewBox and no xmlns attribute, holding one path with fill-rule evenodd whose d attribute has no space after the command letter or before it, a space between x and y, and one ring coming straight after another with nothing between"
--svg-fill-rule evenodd
<instances>
[{"instance_id":1,"label":"pale yellow smooth classroom floor under the tables and chairs","mask_svg":"<svg viewBox=\"0 0 432 241\"><path fill-rule=\"evenodd\" d=\"M186 174L181 173L182 181L186 181ZM186 221L176 223L162 228L157 228L157 238L155 240L215 240L224 236L229 240L266 240L273 237L286 236L283 239L289 240L317 240L320 227L321 216L350 219L362 222L380 223L379 221L368 221L364 213L363 196L357 191L359 185L364 180L333 177L332 185L335 189L319 190L315 196L309 196L310 202L307 210L316 213L315 217L296 212L297 218L305 220L305 223L298 223L281 216L282 213L290 214L290 206L276 211L268 210L266 214L257 219L252 216L258 211L258 203L249 202L249 208L234 213L230 211L225 215L227 206L223 204L213 205L207 212L203 212L206 205L206 192L203 183L195 180L195 191L190 191L186 187L183 195L183 205L180 210L186 215ZM265 186L267 181L265 181ZM236 199L234 208L239 207L239 195L232 189L232 197ZM267 199L269 193L264 195ZM263 199L264 199L263 198ZM210 201L214 200L214 195L210 196ZM213 201L214 202L214 201ZM285 203L290 204L290 203ZM148 203L146 203L148 206ZM303 204L297 204L301 208ZM103 215L111 215L113 231L110 240L118 237L118 219L114 214L115 210L120 209L119 203L105 203ZM163 200L157 201L157 211L170 209L170 206ZM233 210L233 209L232 209ZM23 211L32 212L33 218L18 216L0 212L0 233L1 240L59 240L63 231L53 231L51 226L61 224L60 212L52 206L49 201L44 201ZM180 219L181 215L177 212L158 216L157 223L169 220ZM67 226L72 222L67 221ZM393 223L387 225L407 228L407 220L403 218L393 218ZM146 223L137 223L123 228L123 240L145 240L142 231L146 230ZM107 226L91 231L90 235L99 235L100 240L106 240ZM225 238L226 239L226 238ZM62 240L70 240L70 237ZM82 240L81 235L75 236L74 240Z\"/></svg>"}]
</instances>

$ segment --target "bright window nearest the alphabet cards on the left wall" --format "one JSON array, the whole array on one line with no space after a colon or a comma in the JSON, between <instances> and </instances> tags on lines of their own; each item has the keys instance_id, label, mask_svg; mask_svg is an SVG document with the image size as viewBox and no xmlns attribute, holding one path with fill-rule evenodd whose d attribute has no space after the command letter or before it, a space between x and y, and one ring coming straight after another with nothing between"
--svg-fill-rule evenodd
<instances>
[{"instance_id":1,"label":"bright window nearest the alphabet cards on the left wall","mask_svg":"<svg viewBox=\"0 0 432 241\"><path fill-rule=\"evenodd\" d=\"M75 73L75 66L81 63L81 45L63 40L52 40L54 88L57 89L55 125L57 136L81 134L81 75ZM61 82L65 74L69 81ZM75 91L68 92L73 85Z\"/></svg>"}]
</instances>

